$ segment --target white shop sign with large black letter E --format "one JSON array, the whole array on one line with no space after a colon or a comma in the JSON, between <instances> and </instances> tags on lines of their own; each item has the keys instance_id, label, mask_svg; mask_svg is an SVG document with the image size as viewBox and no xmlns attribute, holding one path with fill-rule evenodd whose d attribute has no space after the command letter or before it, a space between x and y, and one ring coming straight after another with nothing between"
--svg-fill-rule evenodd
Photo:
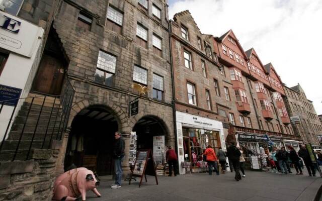
<instances>
[{"instance_id":1,"label":"white shop sign with large black letter E","mask_svg":"<svg viewBox=\"0 0 322 201\"><path fill-rule=\"evenodd\" d=\"M27 21L0 11L0 47L31 58L44 30Z\"/></svg>"}]
</instances>

